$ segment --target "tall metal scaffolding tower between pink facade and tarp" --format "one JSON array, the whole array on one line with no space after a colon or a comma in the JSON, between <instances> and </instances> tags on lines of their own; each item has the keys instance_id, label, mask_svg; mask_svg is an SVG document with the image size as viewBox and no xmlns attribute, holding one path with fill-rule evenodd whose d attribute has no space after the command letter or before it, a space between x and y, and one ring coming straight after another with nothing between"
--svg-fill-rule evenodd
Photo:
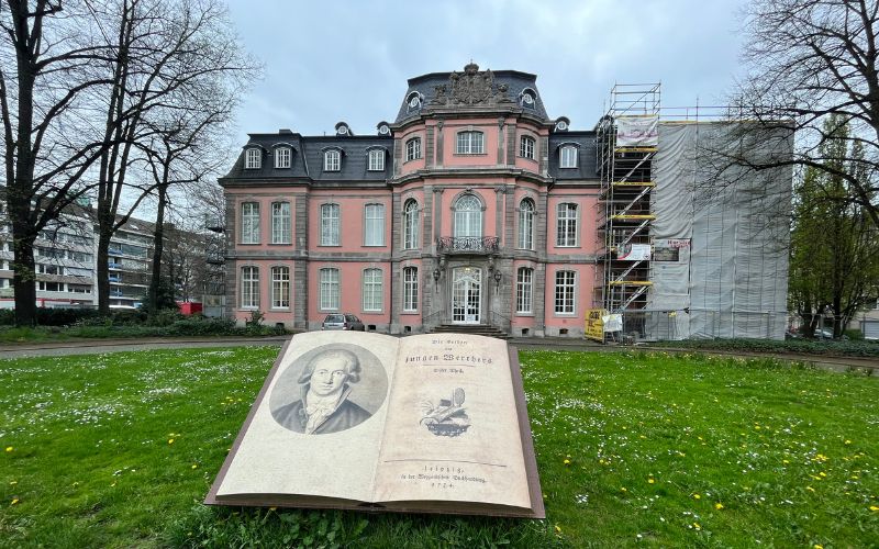
<instances>
[{"instance_id":1,"label":"tall metal scaffolding tower between pink facade and tarp","mask_svg":"<svg viewBox=\"0 0 879 549\"><path fill-rule=\"evenodd\" d=\"M653 283L650 199L659 99L659 83L617 83L596 128L601 194L593 303L610 313L643 310Z\"/></svg>"}]
</instances>

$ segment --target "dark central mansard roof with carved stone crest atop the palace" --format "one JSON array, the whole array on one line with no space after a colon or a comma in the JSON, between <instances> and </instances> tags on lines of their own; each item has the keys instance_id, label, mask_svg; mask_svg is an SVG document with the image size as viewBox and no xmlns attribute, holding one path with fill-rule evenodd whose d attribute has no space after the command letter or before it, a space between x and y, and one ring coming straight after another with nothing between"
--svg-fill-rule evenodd
<instances>
[{"instance_id":1,"label":"dark central mansard roof with carved stone crest atop the palace","mask_svg":"<svg viewBox=\"0 0 879 549\"><path fill-rule=\"evenodd\" d=\"M446 109L516 109L548 121L536 81L537 77L528 72L479 70L474 63L465 66L463 72L431 72L410 78L396 122L399 124L423 111ZM525 107L521 98L526 90L533 92L534 102ZM420 108L410 107L415 94L421 98Z\"/></svg>"}]
</instances>

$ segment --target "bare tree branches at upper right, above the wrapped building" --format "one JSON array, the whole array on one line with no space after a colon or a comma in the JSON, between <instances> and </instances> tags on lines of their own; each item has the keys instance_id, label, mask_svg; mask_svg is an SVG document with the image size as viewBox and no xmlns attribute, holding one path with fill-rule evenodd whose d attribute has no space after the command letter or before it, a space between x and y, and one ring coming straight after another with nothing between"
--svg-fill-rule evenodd
<instances>
[{"instance_id":1,"label":"bare tree branches at upper right, above the wrapped building","mask_svg":"<svg viewBox=\"0 0 879 549\"><path fill-rule=\"evenodd\" d=\"M746 158L728 148L716 154L722 147L712 147L719 179L742 167L819 170L844 180L850 191L843 197L827 193L827 200L856 204L879 225L879 2L755 0L745 14L745 30L749 71L731 98L731 115L750 121L752 132L793 131L794 152ZM832 115L834 124L825 124ZM846 158L850 169L841 169L823 146L842 126L848 127L848 144L863 152ZM783 138L783 133L776 134Z\"/></svg>"}]
</instances>

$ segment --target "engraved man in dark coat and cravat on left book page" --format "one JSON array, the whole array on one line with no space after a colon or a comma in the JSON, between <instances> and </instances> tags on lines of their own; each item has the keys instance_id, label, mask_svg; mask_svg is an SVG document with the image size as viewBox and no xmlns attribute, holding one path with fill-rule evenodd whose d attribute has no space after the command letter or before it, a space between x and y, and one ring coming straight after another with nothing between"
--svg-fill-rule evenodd
<instances>
[{"instance_id":1,"label":"engraved man in dark coat and cravat on left book page","mask_svg":"<svg viewBox=\"0 0 879 549\"><path fill-rule=\"evenodd\" d=\"M329 349L312 358L297 382L299 400L271 411L282 427L305 435L324 435L349 429L371 414L348 400L360 381L357 356L346 349Z\"/></svg>"}]
</instances>

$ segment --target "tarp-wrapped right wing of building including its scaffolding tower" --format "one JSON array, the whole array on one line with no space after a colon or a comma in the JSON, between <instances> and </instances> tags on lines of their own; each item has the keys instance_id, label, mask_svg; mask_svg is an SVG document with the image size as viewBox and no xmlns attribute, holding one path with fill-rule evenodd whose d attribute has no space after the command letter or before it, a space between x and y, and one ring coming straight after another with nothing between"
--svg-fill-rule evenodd
<instances>
[{"instance_id":1,"label":"tarp-wrapped right wing of building including its scaffolding tower","mask_svg":"<svg viewBox=\"0 0 879 549\"><path fill-rule=\"evenodd\" d=\"M594 305L621 315L612 337L783 338L791 171L737 166L789 158L791 132L688 114L663 111L659 85L611 92Z\"/></svg>"}]
</instances>

